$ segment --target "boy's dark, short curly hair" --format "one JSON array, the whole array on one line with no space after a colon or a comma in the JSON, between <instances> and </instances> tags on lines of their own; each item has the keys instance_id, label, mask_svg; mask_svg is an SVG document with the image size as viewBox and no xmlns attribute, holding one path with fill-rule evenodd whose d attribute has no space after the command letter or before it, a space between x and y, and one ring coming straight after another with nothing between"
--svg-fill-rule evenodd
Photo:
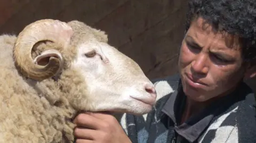
<instances>
[{"instance_id":1,"label":"boy's dark, short curly hair","mask_svg":"<svg viewBox=\"0 0 256 143\"><path fill-rule=\"evenodd\" d=\"M186 31L199 17L214 31L238 36L244 61L256 64L256 0L190 0Z\"/></svg>"}]
</instances>

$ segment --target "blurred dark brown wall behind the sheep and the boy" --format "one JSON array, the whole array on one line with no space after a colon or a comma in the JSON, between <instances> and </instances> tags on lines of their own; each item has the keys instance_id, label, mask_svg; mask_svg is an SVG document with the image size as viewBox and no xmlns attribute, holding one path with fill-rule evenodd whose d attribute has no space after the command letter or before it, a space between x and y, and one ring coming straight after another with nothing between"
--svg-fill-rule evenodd
<instances>
[{"instance_id":1,"label":"blurred dark brown wall behind the sheep and the boy","mask_svg":"<svg viewBox=\"0 0 256 143\"><path fill-rule=\"evenodd\" d=\"M106 31L109 44L149 78L177 73L188 0L1 0L0 33L39 19L79 20ZM256 90L256 79L248 81Z\"/></svg>"}]
</instances>

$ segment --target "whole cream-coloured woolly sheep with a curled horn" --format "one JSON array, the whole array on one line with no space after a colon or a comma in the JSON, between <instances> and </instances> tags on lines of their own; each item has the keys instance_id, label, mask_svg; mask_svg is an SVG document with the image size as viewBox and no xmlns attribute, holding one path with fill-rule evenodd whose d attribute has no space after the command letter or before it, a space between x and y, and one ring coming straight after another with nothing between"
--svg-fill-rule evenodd
<instances>
[{"instance_id":1,"label":"whole cream-coloured woolly sheep with a curled horn","mask_svg":"<svg viewBox=\"0 0 256 143\"><path fill-rule=\"evenodd\" d=\"M0 142L74 142L84 111L146 114L156 91L140 66L77 20L0 36Z\"/></svg>"}]
</instances>

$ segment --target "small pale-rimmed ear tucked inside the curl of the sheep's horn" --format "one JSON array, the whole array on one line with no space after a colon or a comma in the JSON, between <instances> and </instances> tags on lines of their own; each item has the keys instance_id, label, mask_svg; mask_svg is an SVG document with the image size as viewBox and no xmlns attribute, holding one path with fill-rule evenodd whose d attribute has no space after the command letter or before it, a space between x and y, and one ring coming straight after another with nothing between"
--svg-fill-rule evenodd
<instances>
[{"instance_id":1,"label":"small pale-rimmed ear tucked inside the curl of the sheep's horn","mask_svg":"<svg viewBox=\"0 0 256 143\"><path fill-rule=\"evenodd\" d=\"M48 50L42 52L40 55L38 55L35 58L34 63L36 63L38 65L46 65L47 63L49 63L49 60L51 57L57 57L61 60L61 62L63 62L62 55L59 51L57 51L55 49L48 49Z\"/></svg>"}]
</instances>

